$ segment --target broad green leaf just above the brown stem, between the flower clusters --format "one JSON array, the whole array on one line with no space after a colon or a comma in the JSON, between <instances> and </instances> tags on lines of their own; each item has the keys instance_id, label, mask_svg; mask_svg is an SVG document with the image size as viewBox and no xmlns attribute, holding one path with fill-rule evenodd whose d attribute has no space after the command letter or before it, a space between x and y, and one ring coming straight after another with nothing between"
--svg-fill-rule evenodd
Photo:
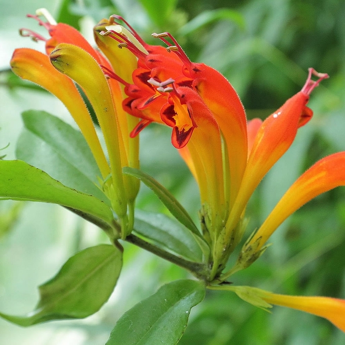
<instances>
[{"instance_id":1,"label":"broad green leaf just above the brown stem, between the flower clusters","mask_svg":"<svg viewBox=\"0 0 345 345\"><path fill-rule=\"evenodd\" d=\"M165 214L136 210L134 231L189 260L202 260L202 251L192 233Z\"/></svg>"}]
</instances>

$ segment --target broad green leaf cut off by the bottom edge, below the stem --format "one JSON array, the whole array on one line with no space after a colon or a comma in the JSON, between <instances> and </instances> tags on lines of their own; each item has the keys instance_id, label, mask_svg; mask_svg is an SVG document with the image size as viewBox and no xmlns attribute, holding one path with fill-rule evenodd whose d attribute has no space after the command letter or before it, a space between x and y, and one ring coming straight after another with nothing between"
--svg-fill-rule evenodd
<instances>
[{"instance_id":1,"label":"broad green leaf cut off by the bottom edge, below the stem","mask_svg":"<svg viewBox=\"0 0 345 345\"><path fill-rule=\"evenodd\" d=\"M201 281L166 284L117 321L106 345L175 345L187 326L191 308L204 297Z\"/></svg>"}]
</instances>

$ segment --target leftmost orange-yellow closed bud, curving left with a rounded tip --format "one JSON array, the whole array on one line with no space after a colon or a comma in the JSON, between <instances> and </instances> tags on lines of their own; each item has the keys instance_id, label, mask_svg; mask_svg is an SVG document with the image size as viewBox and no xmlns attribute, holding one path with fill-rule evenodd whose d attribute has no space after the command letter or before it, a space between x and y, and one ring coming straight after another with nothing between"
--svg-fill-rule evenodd
<instances>
[{"instance_id":1,"label":"leftmost orange-yellow closed bud, curving left with a rounded tip","mask_svg":"<svg viewBox=\"0 0 345 345\"><path fill-rule=\"evenodd\" d=\"M65 104L89 144L102 177L105 178L110 169L90 114L73 81L57 71L48 56L34 49L16 49L12 56L11 68L19 77L40 85Z\"/></svg>"}]
</instances>

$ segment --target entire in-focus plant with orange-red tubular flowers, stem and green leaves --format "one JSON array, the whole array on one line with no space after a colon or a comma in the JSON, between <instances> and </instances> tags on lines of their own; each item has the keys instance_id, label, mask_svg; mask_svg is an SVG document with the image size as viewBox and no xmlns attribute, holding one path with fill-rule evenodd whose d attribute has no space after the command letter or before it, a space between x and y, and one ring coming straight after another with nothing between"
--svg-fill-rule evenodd
<instances>
[{"instance_id":1,"label":"entire in-focus plant with orange-red tubular flowers, stem and green leaves","mask_svg":"<svg viewBox=\"0 0 345 345\"><path fill-rule=\"evenodd\" d=\"M127 311L107 345L177 344L191 308L203 301L207 290L235 292L267 311L273 305L306 311L345 332L344 300L288 296L236 283L238 272L270 250L270 237L286 218L321 193L345 184L345 152L324 157L291 185L258 229L248 229L250 197L289 149L299 128L312 120L309 99L328 75L310 68L300 92L264 121L247 121L229 81L217 70L192 62L170 33L154 33L157 45L147 44L122 17L112 15L95 26L97 47L93 47L74 28L56 23L44 9L30 17L47 35L28 29L21 34L44 41L45 52L16 49L12 71L60 99L80 132L45 112L29 111L23 119L82 174L70 176L75 182L65 185L25 161L1 160L1 199L66 207L104 231L108 244L72 256L39 287L40 300L28 315L0 315L30 326L95 313L120 276L122 243L131 242L187 270L190 279L162 286ZM96 114L104 145L86 100ZM151 123L171 128L171 143L197 182L198 222L163 185L140 170L139 136ZM164 242L168 237L159 242L153 228L145 234L137 229L135 202L140 183L152 189L179 222L188 243ZM168 220L166 225L161 231L178 239Z\"/></svg>"}]
</instances>

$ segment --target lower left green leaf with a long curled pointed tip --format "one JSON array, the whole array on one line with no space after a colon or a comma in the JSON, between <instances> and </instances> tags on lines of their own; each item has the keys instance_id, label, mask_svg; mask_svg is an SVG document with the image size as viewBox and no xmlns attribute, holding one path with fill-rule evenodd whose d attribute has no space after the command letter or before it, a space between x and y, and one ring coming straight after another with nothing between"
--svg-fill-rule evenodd
<instances>
[{"instance_id":1,"label":"lower left green leaf with a long curled pointed tip","mask_svg":"<svg viewBox=\"0 0 345 345\"><path fill-rule=\"evenodd\" d=\"M122 267L122 252L109 244L86 248L64 264L60 272L39 286L40 301L27 316L0 313L21 326L83 318L98 311L110 297Z\"/></svg>"}]
</instances>

